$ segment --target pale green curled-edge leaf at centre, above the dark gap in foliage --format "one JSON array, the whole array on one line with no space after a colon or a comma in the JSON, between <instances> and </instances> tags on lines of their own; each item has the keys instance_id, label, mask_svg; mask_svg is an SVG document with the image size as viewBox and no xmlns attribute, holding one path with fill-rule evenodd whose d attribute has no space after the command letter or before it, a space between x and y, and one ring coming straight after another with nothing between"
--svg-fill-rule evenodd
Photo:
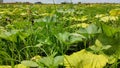
<instances>
[{"instance_id":1,"label":"pale green curled-edge leaf at centre, above the dark gap in foliage","mask_svg":"<svg viewBox=\"0 0 120 68\"><path fill-rule=\"evenodd\" d=\"M59 33L56 37L60 42L65 44L72 44L79 41L83 41L83 39L85 39L85 37L81 34L69 32Z\"/></svg>"}]
</instances>

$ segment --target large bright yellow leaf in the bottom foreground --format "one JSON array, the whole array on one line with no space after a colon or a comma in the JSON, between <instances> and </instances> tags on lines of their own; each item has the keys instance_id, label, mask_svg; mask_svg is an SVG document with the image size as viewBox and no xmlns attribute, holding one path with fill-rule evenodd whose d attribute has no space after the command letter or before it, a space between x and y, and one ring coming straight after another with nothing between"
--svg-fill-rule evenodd
<instances>
[{"instance_id":1,"label":"large bright yellow leaf in the bottom foreground","mask_svg":"<svg viewBox=\"0 0 120 68\"><path fill-rule=\"evenodd\" d=\"M65 56L66 68L103 68L108 63L105 55L96 55L86 50L75 52L70 56Z\"/></svg>"}]
</instances>

